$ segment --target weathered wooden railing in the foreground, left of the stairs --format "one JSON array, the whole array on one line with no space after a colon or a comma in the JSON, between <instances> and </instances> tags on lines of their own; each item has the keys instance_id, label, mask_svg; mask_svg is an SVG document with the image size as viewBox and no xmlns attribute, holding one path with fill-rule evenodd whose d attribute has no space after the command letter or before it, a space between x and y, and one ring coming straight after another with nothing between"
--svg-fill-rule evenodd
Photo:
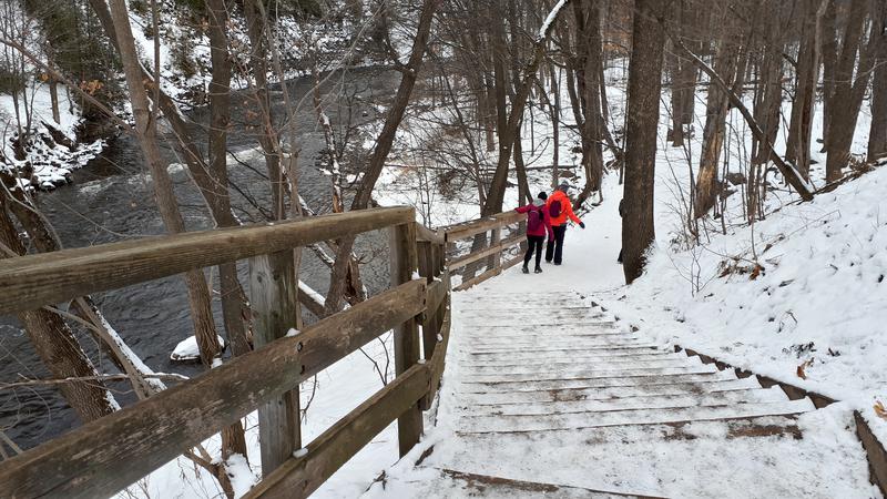
<instances>
[{"instance_id":1,"label":"weathered wooden railing in the foreground, left of the stairs","mask_svg":"<svg viewBox=\"0 0 887 499\"><path fill-rule=\"evenodd\" d=\"M10 314L249 258L251 297L259 308L255 334L267 343L2 461L0 497L113 495L254 410L264 479L248 497L308 496L395 419L406 454L438 389L450 324L446 240L414 221L412 208L378 208L0 261L0 314ZM269 269L292 263L295 248L376 230L390 234L391 288L287 335L296 283ZM414 279L417 268L422 278ZM298 411L287 408L286 397L391 329L395 379L302 448Z\"/></svg>"}]
</instances>

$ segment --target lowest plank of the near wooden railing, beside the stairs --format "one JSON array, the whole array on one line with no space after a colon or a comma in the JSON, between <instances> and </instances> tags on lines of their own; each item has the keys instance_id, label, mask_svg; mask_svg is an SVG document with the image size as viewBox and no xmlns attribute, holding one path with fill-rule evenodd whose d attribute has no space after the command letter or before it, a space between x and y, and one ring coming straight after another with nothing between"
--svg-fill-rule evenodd
<instances>
[{"instance_id":1,"label":"lowest plank of the near wooden railing, beside the stairs","mask_svg":"<svg viewBox=\"0 0 887 499\"><path fill-rule=\"evenodd\" d=\"M306 447L256 485L244 499L308 497L364 448L395 418L416 406L428 391L428 366L417 364L339 419Z\"/></svg>"}]
</instances>

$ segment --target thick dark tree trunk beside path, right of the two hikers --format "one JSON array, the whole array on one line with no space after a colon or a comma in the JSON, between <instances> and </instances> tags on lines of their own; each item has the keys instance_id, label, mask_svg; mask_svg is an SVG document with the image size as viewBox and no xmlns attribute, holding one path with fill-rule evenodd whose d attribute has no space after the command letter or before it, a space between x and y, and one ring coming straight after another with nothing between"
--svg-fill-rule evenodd
<instances>
[{"instance_id":1,"label":"thick dark tree trunk beside path, right of the two hikers","mask_svg":"<svg viewBox=\"0 0 887 499\"><path fill-rule=\"evenodd\" d=\"M653 184L664 37L660 0L635 0L625 128L625 187L622 258L625 282L643 273L646 251L655 241Z\"/></svg>"}]
</instances>

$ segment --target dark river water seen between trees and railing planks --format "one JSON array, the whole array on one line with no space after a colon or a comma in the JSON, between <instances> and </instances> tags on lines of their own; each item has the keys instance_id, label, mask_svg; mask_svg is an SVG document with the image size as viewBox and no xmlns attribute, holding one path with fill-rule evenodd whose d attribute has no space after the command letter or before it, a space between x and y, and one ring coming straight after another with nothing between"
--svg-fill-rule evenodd
<instances>
[{"instance_id":1,"label":"dark river water seen between trees and railing planks","mask_svg":"<svg viewBox=\"0 0 887 499\"><path fill-rule=\"evenodd\" d=\"M334 74L325 86L324 94L337 103L327 110L334 123L345 124L349 120L358 123L375 118L371 103L384 101L391 94L397 82L391 72L379 70L351 70ZM313 82L298 79L288 83L290 95L302 102L297 115L299 152L299 191L308 204L319 211L329 211L330 183L315 167L315 160L325 147L323 132L316 125L310 94ZM305 98L307 95L307 98ZM343 95L357 95L349 99ZM305 98L303 100L303 98ZM231 181L247 196L255 197L261 206L271 203L268 184L263 176L264 160L252 152L257 146L255 132L245 130L243 110L245 95L232 99L234 130L228 134L228 149L251 167L235 165L230 169ZM272 93L275 112L283 116L283 94ZM355 100L356 99L356 100ZM349 103L353 112L347 111ZM338 112L337 112L338 111ZM197 123L208 119L206 109L192 111ZM206 147L205 131L195 130L194 135ZM165 152L175 162L172 150ZM200 193L193 187L187 173L173 172L176 194L188 230L208 228L211 221ZM232 201L237 216L244 222L263 221L261 213L247 198L232 191ZM142 162L137 143L128 136L113 140L101 157L74 173L74 184L52 194L41 194L39 204L52 222L64 247L102 244L123 238L133 238L163 233L160 214L154 206L152 186ZM387 286L387 254L379 234L368 234L358 240L357 252L363 257L363 276L370 293ZM170 255L174 258L175 255ZM242 282L246 263L238 269ZM329 271L314 253L303 253L300 278L324 293L329 285ZM247 289L248 292L248 289ZM2 291L0 291L2 293ZM112 326L130 347L153 369L164 373L181 373L188 376L203 370L200 366L173 364L169 356L175 345L193 334L183 281L179 276L143 283L122 289L93 295ZM220 334L221 307L214 302L214 313ZM308 318L308 322L310 319ZM79 332L92 360L105 371L115 371L102 358L94 342ZM0 316L0 383L10 383L21 377L45 378L39 357L33 352L27 335L14 317ZM124 384L113 385L118 400L129 404L134 398ZM39 388L0 390L0 429L22 448L33 447L51 439L73 426L78 419L67 403L54 389Z\"/></svg>"}]
</instances>

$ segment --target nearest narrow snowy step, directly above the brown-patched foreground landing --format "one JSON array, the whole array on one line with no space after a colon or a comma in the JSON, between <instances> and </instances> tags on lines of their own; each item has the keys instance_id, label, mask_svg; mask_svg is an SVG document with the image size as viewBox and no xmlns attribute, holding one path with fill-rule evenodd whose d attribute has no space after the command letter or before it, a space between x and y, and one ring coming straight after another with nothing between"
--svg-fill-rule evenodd
<instances>
[{"instance_id":1,"label":"nearest narrow snowy step, directly above the brown-patched foreground landing","mask_svg":"<svg viewBox=\"0 0 887 499\"><path fill-rule=\"evenodd\" d=\"M601 426L650 425L714 419L736 419L757 416L799 414L816 407L807 399L761 404L734 404L718 406L680 407L673 409L625 409L603 413L572 413L520 415L520 416L469 416L459 418L459 432L520 432L547 431Z\"/></svg>"}]
</instances>

